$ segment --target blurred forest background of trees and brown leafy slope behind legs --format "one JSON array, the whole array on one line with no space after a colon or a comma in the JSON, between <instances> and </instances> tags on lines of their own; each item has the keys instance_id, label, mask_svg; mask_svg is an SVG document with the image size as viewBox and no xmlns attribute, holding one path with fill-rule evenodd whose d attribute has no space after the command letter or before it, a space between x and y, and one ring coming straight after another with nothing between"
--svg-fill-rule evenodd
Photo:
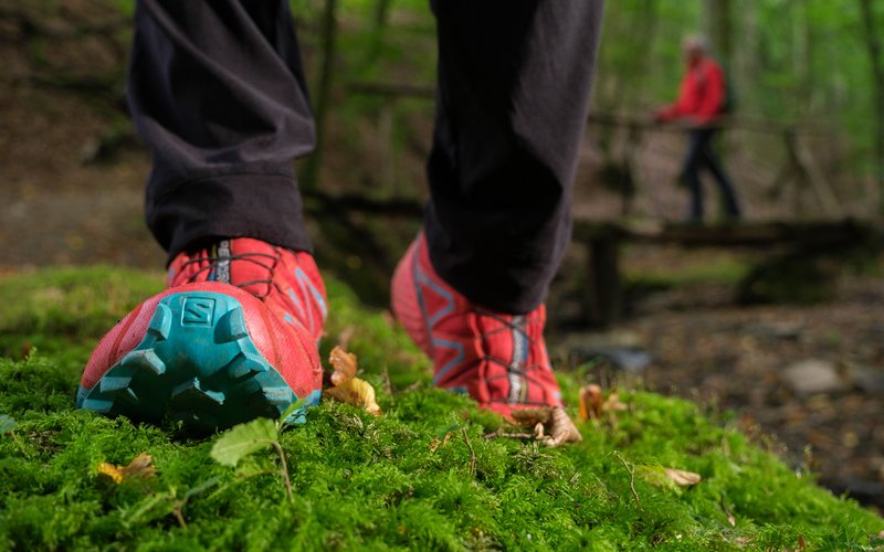
<instances>
[{"instance_id":1,"label":"blurred forest background of trees and brown leafy slope behind legs","mask_svg":"<svg viewBox=\"0 0 884 552\"><path fill-rule=\"evenodd\" d=\"M428 3L291 0L319 127L317 151L298 161L318 261L381 307L427 194ZM133 12L134 0L0 3L0 274L161 269L141 213L149 155L125 104ZM614 372L737 408L797 463L811 461L810 444L827 485L884 505L884 429L874 423L884 415L884 2L610 0L578 221L661 229L686 215L684 130L652 125L650 114L675 98L681 41L697 32L736 94L718 147L745 224L851 220L876 238L812 258L772 246L624 243L625 318L601 338L581 315L591 261L576 244L550 295L550 342L562 365L602 351ZM707 200L714 226L716 195ZM807 372L792 364L804 361L823 367L829 386L796 383Z\"/></svg>"}]
</instances>

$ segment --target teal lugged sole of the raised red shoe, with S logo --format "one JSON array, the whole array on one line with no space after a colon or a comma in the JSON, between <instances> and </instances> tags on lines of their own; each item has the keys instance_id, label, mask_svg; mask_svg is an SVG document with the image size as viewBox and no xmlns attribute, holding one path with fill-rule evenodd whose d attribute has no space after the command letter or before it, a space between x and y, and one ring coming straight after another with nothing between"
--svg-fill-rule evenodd
<instances>
[{"instance_id":1,"label":"teal lugged sole of the raised red shoe, with S logo","mask_svg":"<svg viewBox=\"0 0 884 552\"><path fill-rule=\"evenodd\" d=\"M311 393L290 422L319 402ZM162 423L181 421L196 433L223 429L259 416L277 418L298 397L261 355L233 297L185 291L162 298L145 338L76 404L108 416Z\"/></svg>"}]
</instances>

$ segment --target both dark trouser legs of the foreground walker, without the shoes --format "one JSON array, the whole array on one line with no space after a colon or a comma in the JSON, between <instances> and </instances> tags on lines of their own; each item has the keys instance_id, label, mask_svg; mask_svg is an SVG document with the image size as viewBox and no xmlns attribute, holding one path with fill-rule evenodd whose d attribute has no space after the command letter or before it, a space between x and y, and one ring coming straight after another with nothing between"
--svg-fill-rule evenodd
<instances>
[{"instance_id":1,"label":"both dark trouser legs of the foreground walker, without the shoes","mask_svg":"<svg viewBox=\"0 0 884 552\"><path fill-rule=\"evenodd\" d=\"M435 269L522 314L570 237L603 0L431 1L438 102L424 219ZM170 258L212 236L311 251L293 159L315 130L286 1L140 0L129 105Z\"/></svg>"}]
</instances>

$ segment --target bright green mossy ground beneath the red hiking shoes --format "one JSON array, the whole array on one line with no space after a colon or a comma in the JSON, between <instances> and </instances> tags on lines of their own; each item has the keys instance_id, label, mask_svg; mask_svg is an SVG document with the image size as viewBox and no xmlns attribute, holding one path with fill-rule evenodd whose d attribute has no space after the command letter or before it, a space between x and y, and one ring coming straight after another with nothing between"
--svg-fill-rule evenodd
<instances>
[{"instance_id":1,"label":"bright green mossy ground beneath the red hiking shoes","mask_svg":"<svg viewBox=\"0 0 884 552\"><path fill-rule=\"evenodd\" d=\"M0 415L15 424L0 435L0 549L884 546L874 537L884 520L690 402L620 390L628 410L583 423L579 445L485 438L499 420L432 389L427 360L389 317L328 284L325 352L349 336L385 414L323 403L286 431L288 500L275 475L243 478L215 464L214 436L74 410L91 347L162 287L160 275L95 267L0 279ZM592 371L559 376L575 404ZM144 452L156 477L98 477L99 464ZM274 461L271 450L255 456ZM703 480L676 487L662 467Z\"/></svg>"}]
</instances>

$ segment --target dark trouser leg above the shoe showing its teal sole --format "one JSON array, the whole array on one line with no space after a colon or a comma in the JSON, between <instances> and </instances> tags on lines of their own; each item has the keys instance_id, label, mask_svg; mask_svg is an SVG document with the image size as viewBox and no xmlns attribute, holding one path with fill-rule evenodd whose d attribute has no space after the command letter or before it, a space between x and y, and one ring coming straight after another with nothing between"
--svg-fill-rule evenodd
<instances>
[{"instance_id":1,"label":"dark trouser leg above the shoe showing its teal sole","mask_svg":"<svg viewBox=\"0 0 884 552\"><path fill-rule=\"evenodd\" d=\"M309 251L292 160L314 125L286 1L137 2L128 97L170 259L208 236Z\"/></svg>"}]
</instances>

